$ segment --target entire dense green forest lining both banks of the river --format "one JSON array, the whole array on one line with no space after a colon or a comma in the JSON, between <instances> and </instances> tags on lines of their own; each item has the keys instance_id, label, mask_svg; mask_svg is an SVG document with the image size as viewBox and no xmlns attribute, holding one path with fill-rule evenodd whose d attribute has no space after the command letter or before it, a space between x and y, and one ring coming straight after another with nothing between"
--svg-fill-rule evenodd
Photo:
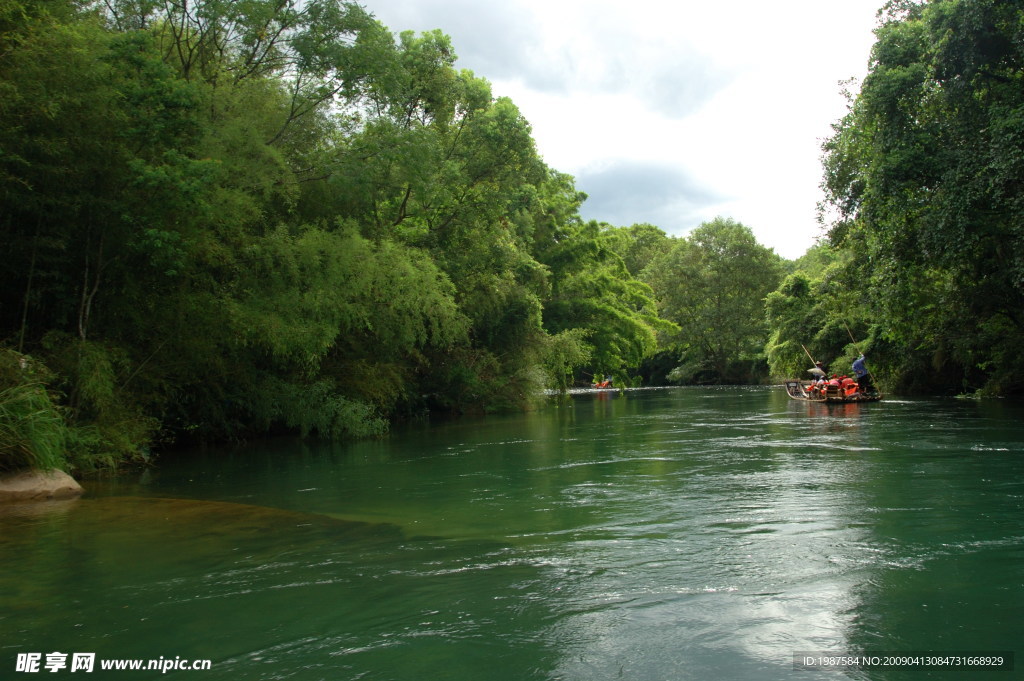
<instances>
[{"instance_id":1,"label":"entire dense green forest lining both banks of the river","mask_svg":"<svg viewBox=\"0 0 1024 681\"><path fill-rule=\"evenodd\" d=\"M1024 11L893 2L796 262L585 221L440 31L338 0L0 0L0 465L358 437L545 388L1024 385Z\"/></svg>"}]
</instances>

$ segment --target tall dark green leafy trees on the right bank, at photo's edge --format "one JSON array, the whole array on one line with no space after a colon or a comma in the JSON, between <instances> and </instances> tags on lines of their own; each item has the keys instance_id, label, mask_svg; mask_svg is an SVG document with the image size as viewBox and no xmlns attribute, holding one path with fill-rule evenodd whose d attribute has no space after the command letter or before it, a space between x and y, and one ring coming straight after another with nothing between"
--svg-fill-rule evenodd
<instances>
[{"instance_id":1,"label":"tall dark green leafy trees on the right bank, at photo's edge","mask_svg":"<svg viewBox=\"0 0 1024 681\"><path fill-rule=\"evenodd\" d=\"M1022 387L992 361L1022 352L1021 16L993 0L894 7L824 147L831 242L860 263L904 385Z\"/></svg>"}]
</instances>

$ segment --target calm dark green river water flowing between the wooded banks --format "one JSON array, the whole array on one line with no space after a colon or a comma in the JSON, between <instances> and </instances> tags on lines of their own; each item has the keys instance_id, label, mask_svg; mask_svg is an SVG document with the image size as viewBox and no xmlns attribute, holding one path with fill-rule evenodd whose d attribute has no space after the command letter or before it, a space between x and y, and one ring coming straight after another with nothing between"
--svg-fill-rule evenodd
<instances>
[{"instance_id":1,"label":"calm dark green river water flowing between the wooded banks","mask_svg":"<svg viewBox=\"0 0 1024 681\"><path fill-rule=\"evenodd\" d=\"M572 395L354 444L165 457L0 514L0 679L1013 679L1024 407ZM19 653L210 659L19 672Z\"/></svg>"}]
</instances>

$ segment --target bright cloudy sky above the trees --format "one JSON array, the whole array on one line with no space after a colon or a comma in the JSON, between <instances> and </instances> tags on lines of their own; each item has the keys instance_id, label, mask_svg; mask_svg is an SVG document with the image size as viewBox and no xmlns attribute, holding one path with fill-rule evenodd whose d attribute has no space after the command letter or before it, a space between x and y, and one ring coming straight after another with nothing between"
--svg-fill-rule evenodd
<instances>
[{"instance_id":1,"label":"bright cloudy sky above the trees","mask_svg":"<svg viewBox=\"0 0 1024 681\"><path fill-rule=\"evenodd\" d=\"M440 29L510 97L581 213L682 237L729 217L785 258L821 236L821 143L884 0L360 0Z\"/></svg>"}]
</instances>

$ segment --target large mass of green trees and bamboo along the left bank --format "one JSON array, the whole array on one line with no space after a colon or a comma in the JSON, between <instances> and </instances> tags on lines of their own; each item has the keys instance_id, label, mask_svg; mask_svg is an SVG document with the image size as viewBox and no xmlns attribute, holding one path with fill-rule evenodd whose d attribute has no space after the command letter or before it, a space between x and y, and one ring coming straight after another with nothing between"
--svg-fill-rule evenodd
<instances>
[{"instance_id":1,"label":"large mass of green trees and bamboo along the left bank","mask_svg":"<svg viewBox=\"0 0 1024 681\"><path fill-rule=\"evenodd\" d=\"M665 235L584 224L438 31L333 0L7 0L0 29L0 338L52 369L25 390L70 466L523 407L668 328L629 269Z\"/></svg>"}]
</instances>

